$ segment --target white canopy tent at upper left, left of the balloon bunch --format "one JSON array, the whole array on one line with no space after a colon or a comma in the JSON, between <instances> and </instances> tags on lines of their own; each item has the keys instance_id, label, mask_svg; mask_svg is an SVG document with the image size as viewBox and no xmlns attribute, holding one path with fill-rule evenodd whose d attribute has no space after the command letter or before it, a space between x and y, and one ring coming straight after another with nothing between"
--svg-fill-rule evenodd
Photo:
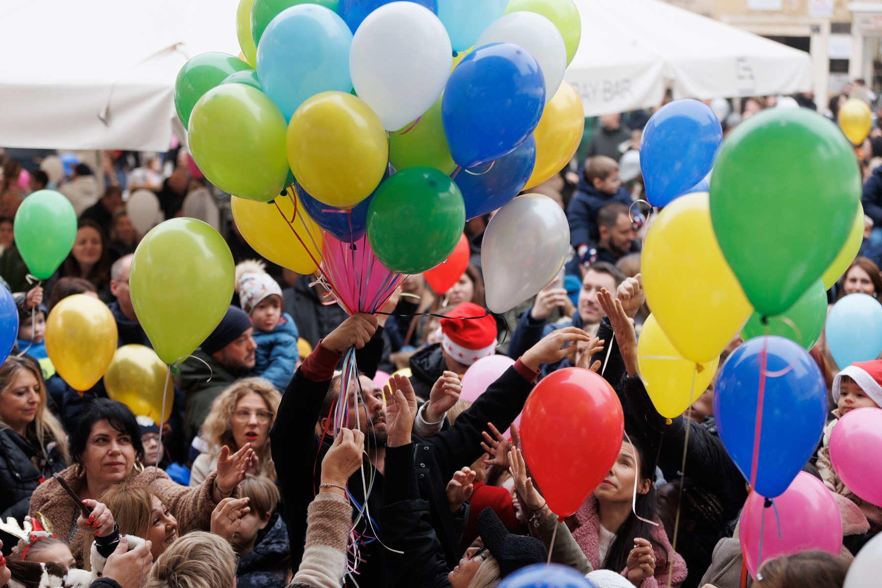
<instances>
[{"instance_id":1,"label":"white canopy tent at upper left, left of the balloon bunch","mask_svg":"<svg viewBox=\"0 0 882 588\"><path fill-rule=\"evenodd\" d=\"M0 3L0 145L167 151L177 72L238 55L238 0Z\"/></svg>"}]
</instances>

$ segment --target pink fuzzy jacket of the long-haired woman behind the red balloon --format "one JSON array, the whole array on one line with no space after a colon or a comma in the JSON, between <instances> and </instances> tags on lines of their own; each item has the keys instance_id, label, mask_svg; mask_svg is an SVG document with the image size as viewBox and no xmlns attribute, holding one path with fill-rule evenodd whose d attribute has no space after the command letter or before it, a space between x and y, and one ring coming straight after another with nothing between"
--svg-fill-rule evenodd
<instances>
[{"instance_id":1,"label":"pink fuzzy jacket of the long-haired woman behind the red balloon","mask_svg":"<svg viewBox=\"0 0 882 588\"><path fill-rule=\"evenodd\" d=\"M587 500L582 504L581 508L576 511L571 519L572 537L582 548L582 553L591 562L594 569L601 569L601 557L598 536L600 535L600 515L597 511L597 499L594 495L588 496ZM660 588L668 585L668 560L669 554L673 553L668 540L668 535L664 532L661 523L653 528L653 540L662 547L654 547L655 552L655 575L647 577L639 588ZM686 562L679 554L674 554L674 575L671 578L672 588L679 588L679 585L686 579ZM628 569L622 571L622 576L628 575Z\"/></svg>"}]
</instances>

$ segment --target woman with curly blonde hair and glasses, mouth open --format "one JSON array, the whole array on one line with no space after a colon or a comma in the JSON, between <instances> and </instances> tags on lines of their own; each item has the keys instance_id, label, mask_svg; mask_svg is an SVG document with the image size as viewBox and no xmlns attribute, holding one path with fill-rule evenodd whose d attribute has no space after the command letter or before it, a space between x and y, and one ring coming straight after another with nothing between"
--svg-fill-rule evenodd
<instances>
[{"instance_id":1,"label":"woman with curly blonde hair and glasses, mouth open","mask_svg":"<svg viewBox=\"0 0 882 588\"><path fill-rule=\"evenodd\" d=\"M193 462L190 485L198 486L217 467L221 447L237 451L246 443L258 458L256 471L249 473L275 480L269 434L280 402L279 391L260 377L243 378L222 391L202 427L200 436L208 450Z\"/></svg>"}]
</instances>

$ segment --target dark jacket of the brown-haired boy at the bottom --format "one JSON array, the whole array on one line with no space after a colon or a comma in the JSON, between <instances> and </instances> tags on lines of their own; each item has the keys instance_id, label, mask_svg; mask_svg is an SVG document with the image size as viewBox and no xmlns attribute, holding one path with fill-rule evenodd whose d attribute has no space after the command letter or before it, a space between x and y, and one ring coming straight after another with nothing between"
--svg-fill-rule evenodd
<instances>
[{"instance_id":1,"label":"dark jacket of the brown-haired boy at the bottom","mask_svg":"<svg viewBox=\"0 0 882 588\"><path fill-rule=\"evenodd\" d=\"M291 567L288 528L279 513L273 515L258 534L251 553L239 562L235 572L236 588L277 588L285 585Z\"/></svg>"}]
</instances>

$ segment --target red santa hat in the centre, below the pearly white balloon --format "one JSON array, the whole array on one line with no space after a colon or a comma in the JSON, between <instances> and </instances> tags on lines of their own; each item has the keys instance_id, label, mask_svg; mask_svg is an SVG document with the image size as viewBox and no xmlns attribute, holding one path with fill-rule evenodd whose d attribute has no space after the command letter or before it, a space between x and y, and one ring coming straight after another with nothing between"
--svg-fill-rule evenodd
<instances>
[{"instance_id":1,"label":"red santa hat in the centre, below the pearly white balloon","mask_svg":"<svg viewBox=\"0 0 882 588\"><path fill-rule=\"evenodd\" d=\"M472 302L459 304L441 319L441 348L463 365L495 354L496 338L496 319Z\"/></svg>"}]
</instances>

